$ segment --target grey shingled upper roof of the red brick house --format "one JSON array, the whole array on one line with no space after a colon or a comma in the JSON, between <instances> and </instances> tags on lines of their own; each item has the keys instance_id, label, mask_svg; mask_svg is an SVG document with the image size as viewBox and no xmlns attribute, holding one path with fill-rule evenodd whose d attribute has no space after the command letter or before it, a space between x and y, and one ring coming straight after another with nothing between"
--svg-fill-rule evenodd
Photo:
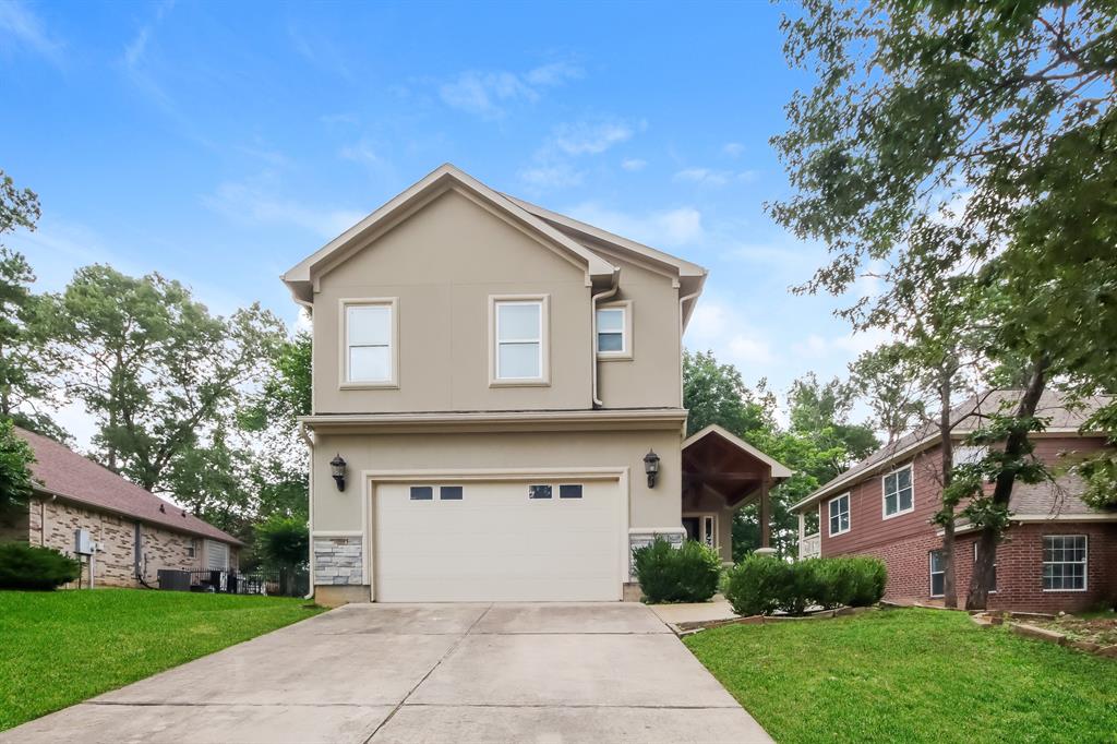
<instances>
[{"instance_id":1,"label":"grey shingled upper roof of the red brick house","mask_svg":"<svg viewBox=\"0 0 1117 744\"><path fill-rule=\"evenodd\" d=\"M1001 411L1003 406L1011 406L1020 399L1019 390L992 390L968 398L951 411L952 433L956 438L965 437L982 426L982 419ZM1049 433L1079 433L1079 428L1095 410L1108 403L1109 395L1097 395L1083 401L1078 408L1067 404L1067 399L1057 390L1047 390L1035 407L1035 416L1048 419L1046 431ZM933 447L939 440L938 425L927 422L896 441L885 445L872 455L849 468L837 478L823 484L815 492L790 508L798 512L805 506L837 494L866 478L884 471L900 460L906 460L923 450ZM1014 489L1015 490L1015 489Z\"/></svg>"}]
</instances>

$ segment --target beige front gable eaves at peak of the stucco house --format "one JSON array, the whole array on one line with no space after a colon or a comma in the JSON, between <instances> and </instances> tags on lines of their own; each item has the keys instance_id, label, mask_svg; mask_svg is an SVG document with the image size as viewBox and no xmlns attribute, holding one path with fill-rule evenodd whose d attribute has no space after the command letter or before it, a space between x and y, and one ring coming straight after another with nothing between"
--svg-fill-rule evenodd
<instances>
[{"instance_id":1,"label":"beige front gable eaves at peak of the stucco house","mask_svg":"<svg viewBox=\"0 0 1117 744\"><path fill-rule=\"evenodd\" d=\"M311 302L315 283L323 274L355 250L375 240L417 209L451 189L496 209L503 217L583 267L586 285L601 286L615 283L619 270L615 266L450 163L438 166L426 178L293 266L283 275L283 280L297 302Z\"/></svg>"}]
</instances>

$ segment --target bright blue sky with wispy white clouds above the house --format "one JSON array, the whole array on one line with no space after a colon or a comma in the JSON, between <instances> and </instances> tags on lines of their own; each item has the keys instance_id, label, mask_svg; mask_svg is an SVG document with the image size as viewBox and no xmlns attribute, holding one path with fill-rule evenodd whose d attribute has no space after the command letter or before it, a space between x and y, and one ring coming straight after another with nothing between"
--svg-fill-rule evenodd
<instances>
[{"instance_id":1,"label":"bright blue sky with wispy white clouds above the house","mask_svg":"<svg viewBox=\"0 0 1117 744\"><path fill-rule=\"evenodd\" d=\"M780 13L0 0L0 168L44 210L9 245L44 289L101 261L294 323L279 274L449 161L708 267L688 345L782 392L873 340L789 292L825 254L764 213L787 192L768 139L809 84Z\"/></svg>"}]
</instances>

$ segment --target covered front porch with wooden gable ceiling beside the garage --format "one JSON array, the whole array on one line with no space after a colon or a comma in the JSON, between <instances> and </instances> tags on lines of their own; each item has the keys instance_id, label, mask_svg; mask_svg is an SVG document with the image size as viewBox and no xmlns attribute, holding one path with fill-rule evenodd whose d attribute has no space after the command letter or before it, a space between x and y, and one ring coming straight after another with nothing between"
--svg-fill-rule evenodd
<instances>
[{"instance_id":1,"label":"covered front porch with wooden gable ceiling beside the garage","mask_svg":"<svg viewBox=\"0 0 1117 744\"><path fill-rule=\"evenodd\" d=\"M733 561L733 515L758 506L761 547L771 540L771 489L791 470L726 429L712 423L682 442L682 528Z\"/></svg>"}]
</instances>

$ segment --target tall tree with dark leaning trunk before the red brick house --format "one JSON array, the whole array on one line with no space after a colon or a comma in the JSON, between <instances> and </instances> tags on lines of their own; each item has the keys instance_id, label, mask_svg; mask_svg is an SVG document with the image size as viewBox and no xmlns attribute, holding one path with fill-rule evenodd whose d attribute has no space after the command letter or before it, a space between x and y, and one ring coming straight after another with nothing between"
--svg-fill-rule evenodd
<instances>
[{"instance_id":1,"label":"tall tree with dark leaning trunk before the red brick house","mask_svg":"<svg viewBox=\"0 0 1117 744\"><path fill-rule=\"evenodd\" d=\"M784 22L789 59L817 83L773 141L794 193L771 211L832 254L801 289L840 295L872 274L886 290L842 315L887 327L928 277L972 276L989 290L989 356L1025 363L990 428L993 494L968 514L970 607L986 601L1044 388L1097 389L1117 359L1115 28L1102 0L804 0Z\"/></svg>"}]
</instances>

